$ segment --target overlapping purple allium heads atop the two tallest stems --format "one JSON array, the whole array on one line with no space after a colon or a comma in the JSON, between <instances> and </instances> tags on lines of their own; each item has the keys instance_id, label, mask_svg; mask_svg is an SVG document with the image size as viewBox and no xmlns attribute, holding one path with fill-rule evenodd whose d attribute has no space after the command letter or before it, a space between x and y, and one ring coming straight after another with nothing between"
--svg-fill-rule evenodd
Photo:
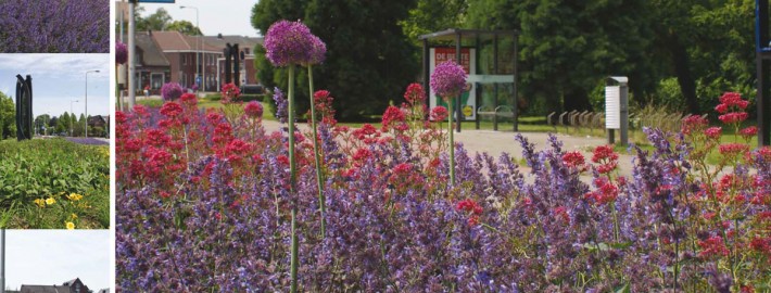
<instances>
[{"instance_id":1,"label":"overlapping purple allium heads atop the two tallest stems","mask_svg":"<svg viewBox=\"0 0 771 293\"><path fill-rule=\"evenodd\" d=\"M279 21L265 34L265 55L275 66L303 64L311 61L314 52L313 34L301 22ZM325 48L326 49L326 48ZM326 51L326 50L325 50Z\"/></svg>"}]
</instances>

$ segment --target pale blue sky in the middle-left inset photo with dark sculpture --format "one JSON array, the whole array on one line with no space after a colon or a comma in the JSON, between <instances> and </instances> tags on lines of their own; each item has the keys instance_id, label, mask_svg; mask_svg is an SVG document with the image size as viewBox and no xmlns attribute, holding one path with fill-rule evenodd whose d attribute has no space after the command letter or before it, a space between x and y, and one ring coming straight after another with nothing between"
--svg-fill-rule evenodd
<instances>
[{"instance_id":1,"label":"pale blue sky in the middle-left inset photo with dark sculpture","mask_svg":"<svg viewBox=\"0 0 771 293\"><path fill-rule=\"evenodd\" d=\"M59 116L85 111L86 72L88 74L88 114L110 112L110 54L0 54L0 92L16 94L16 75L33 77L33 114ZM15 101L15 97L14 97Z\"/></svg>"}]
</instances>

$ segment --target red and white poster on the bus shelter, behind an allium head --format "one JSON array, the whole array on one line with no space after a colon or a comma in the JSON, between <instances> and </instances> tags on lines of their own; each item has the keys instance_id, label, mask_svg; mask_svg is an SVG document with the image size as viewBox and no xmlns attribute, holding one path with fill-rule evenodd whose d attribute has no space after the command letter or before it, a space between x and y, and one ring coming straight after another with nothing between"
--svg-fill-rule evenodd
<instances>
[{"instance_id":1,"label":"red and white poster on the bus shelter, behind an allium head","mask_svg":"<svg viewBox=\"0 0 771 293\"><path fill-rule=\"evenodd\" d=\"M471 48L460 48L460 65L463 66L466 74L471 74L471 68L477 66L477 58L475 54L476 49ZM437 47L431 48L429 52L429 72L433 74L433 69L437 65L444 63L445 61L453 60L456 61L455 47ZM466 84L466 90L460 94L460 112L463 113L465 120L473 120L477 118L477 93L475 90L473 82ZM433 89L430 91L431 98L429 99L429 107L441 105L447 107L447 104L433 94Z\"/></svg>"}]
</instances>

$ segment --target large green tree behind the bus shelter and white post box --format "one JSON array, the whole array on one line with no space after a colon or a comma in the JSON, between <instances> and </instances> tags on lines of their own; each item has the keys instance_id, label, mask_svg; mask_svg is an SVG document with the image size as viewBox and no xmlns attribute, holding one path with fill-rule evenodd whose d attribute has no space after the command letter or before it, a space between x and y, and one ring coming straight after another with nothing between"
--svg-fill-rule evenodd
<instances>
[{"instance_id":1,"label":"large green tree behind the bus shelter and white post box","mask_svg":"<svg viewBox=\"0 0 771 293\"><path fill-rule=\"evenodd\" d=\"M466 26L520 31L518 80L529 104L589 110L589 93L608 75L629 76L635 95L656 84L647 9L645 0L469 0Z\"/></svg>"}]
</instances>

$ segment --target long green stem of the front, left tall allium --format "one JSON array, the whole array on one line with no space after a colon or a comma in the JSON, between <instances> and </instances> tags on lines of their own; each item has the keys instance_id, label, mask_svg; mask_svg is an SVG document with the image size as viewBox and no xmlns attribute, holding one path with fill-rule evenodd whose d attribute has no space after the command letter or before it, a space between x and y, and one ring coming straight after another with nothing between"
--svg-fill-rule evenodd
<instances>
[{"instance_id":1,"label":"long green stem of the front, left tall allium","mask_svg":"<svg viewBox=\"0 0 771 293\"><path fill-rule=\"evenodd\" d=\"M287 93L287 99L289 101L287 119L289 120L289 194L295 198L295 182L296 182L296 162L294 158L294 65L289 65L289 91ZM290 276L292 278L292 284L290 291L292 293L298 292L298 202L296 199L292 199L292 260Z\"/></svg>"}]
</instances>

